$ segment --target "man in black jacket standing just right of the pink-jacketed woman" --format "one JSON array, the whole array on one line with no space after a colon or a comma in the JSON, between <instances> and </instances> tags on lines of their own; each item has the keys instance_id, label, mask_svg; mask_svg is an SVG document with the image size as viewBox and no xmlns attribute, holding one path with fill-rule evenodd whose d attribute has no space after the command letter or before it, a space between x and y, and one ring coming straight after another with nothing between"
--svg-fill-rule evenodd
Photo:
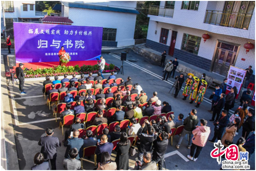
<instances>
[{"instance_id":1,"label":"man in black jacket standing just right of the pink-jacketed woman","mask_svg":"<svg viewBox=\"0 0 256 171\"><path fill-rule=\"evenodd\" d=\"M208 140L208 142L214 143L216 138L218 140L221 140L222 133L229 122L228 119L229 118L227 117L227 110L222 110L220 118L213 123L213 125L215 126L214 136L212 140Z\"/></svg>"}]
</instances>

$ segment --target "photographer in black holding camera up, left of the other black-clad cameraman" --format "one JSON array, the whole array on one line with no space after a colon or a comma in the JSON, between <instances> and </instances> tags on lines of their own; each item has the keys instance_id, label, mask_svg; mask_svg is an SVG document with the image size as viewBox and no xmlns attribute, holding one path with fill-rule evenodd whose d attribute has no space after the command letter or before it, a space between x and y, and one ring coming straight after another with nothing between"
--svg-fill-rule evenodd
<instances>
[{"instance_id":1,"label":"photographer in black holding camera up, left of the other black-clad cameraman","mask_svg":"<svg viewBox=\"0 0 256 171\"><path fill-rule=\"evenodd\" d=\"M156 139L154 134L154 128L152 126L148 126L147 133L142 133L143 128L145 127L145 122L142 127L138 130L137 136L140 139L140 142L137 142L138 147L138 159L142 163L143 162L143 154L145 152L152 151L152 142Z\"/></svg>"}]
</instances>

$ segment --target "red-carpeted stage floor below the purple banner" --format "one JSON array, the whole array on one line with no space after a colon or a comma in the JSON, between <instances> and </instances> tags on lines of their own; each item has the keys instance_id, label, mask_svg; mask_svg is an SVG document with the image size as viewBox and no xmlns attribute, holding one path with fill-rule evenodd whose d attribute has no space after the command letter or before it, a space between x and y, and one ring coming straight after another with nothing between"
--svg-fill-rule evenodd
<instances>
[{"instance_id":1,"label":"red-carpeted stage floor below the purple banner","mask_svg":"<svg viewBox=\"0 0 256 171\"><path fill-rule=\"evenodd\" d=\"M36 70L37 68L50 68L50 67L54 67L54 66L58 66L60 64L60 62L31 62L31 63L23 63L24 67L28 68L28 69L33 69ZM79 65L79 67L83 66L83 65L96 65L97 61L70 61L67 63L67 66L75 66L75 65ZM109 65L108 63L106 63L106 65ZM19 67L19 63L16 64L16 67Z\"/></svg>"}]
</instances>

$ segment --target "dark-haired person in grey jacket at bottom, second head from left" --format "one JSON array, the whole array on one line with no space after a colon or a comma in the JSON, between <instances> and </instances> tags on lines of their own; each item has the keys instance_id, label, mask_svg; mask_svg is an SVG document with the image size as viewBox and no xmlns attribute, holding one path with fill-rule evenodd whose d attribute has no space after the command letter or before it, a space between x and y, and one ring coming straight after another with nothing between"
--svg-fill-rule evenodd
<instances>
[{"instance_id":1,"label":"dark-haired person in grey jacket at bottom, second head from left","mask_svg":"<svg viewBox=\"0 0 256 171\"><path fill-rule=\"evenodd\" d=\"M72 148L68 152L70 158L64 159L64 169L66 170L81 170L81 161L76 159L78 156L78 150L76 148Z\"/></svg>"}]
</instances>

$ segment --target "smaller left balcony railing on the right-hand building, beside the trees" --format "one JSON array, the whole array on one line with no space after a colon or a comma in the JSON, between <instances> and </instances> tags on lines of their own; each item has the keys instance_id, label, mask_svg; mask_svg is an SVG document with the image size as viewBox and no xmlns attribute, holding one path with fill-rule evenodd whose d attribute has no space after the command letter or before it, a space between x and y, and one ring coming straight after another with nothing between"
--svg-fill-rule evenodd
<instances>
[{"instance_id":1,"label":"smaller left balcony railing on the right-hand building, beside the trees","mask_svg":"<svg viewBox=\"0 0 256 171\"><path fill-rule=\"evenodd\" d=\"M173 17L174 9L165 6L149 6L148 14L162 17Z\"/></svg>"}]
</instances>

